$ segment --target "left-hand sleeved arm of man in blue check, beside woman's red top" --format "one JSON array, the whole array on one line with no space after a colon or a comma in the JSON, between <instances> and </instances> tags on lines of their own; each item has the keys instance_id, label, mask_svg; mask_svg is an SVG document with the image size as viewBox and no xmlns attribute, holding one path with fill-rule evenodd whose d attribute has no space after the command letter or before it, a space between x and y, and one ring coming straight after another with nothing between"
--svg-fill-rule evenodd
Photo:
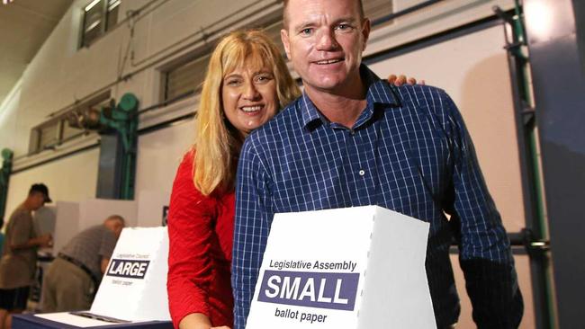
<instances>
[{"instance_id":1,"label":"left-hand sleeved arm of man in blue check, beside woman's red top","mask_svg":"<svg viewBox=\"0 0 585 329\"><path fill-rule=\"evenodd\" d=\"M250 139L242 147L236 187L231 284L234 328L246 326L266 239L274 216L268 175Z\"/></svg>"}]
</instances>

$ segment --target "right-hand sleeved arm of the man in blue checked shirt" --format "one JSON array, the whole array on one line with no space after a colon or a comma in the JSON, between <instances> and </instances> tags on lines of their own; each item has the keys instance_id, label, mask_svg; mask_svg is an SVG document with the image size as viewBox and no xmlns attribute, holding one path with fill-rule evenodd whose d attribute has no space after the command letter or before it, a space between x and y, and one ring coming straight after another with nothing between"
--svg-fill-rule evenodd
<instances>
[{"instance_id":1,"label":"right-hand sleeved arm of the man in blue checked shirt","mask_svg":"<svg viewBox=\"0 0 585 329\"><path fill-rule=\"evenodd\" d=\"M442 97L447 111L453 166L453 202L446 209L460 239L459 259L479 328L517 328L522 295L509 239L491 199L473 142L455 103Z\"/></svg>"}]
</instances>

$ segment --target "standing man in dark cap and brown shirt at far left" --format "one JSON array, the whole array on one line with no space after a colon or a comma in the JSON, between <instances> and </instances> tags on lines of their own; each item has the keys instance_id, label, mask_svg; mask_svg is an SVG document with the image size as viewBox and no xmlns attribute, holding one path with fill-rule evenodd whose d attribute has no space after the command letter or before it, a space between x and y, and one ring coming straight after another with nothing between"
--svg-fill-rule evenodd
<instances>
[{"instance_id":1,"label":"standing man in dark cap and brown shirt at far left","mask_svg":"<svg viewBox=\"0 0 585 329\"><path fill-rule=\"evenodd\" d=\"M50 246L49 234L36 236L32 211L51 202L45 184L33 184L26 200L10 216L6 225L4 250L0 260L0 328L10 328L12 314L22 313L29 298L37 268L37 249Z\"/></svg>"}]
</instances>

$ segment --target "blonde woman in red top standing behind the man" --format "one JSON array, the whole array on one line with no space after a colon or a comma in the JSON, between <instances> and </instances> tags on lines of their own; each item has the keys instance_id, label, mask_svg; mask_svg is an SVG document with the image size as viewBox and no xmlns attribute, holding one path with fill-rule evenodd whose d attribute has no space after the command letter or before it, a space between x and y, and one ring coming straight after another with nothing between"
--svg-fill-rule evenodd
<instances>
[{"instance_id":1,"label":"blonde woman in red top standing behind the man","mask_svg":"<svg viewBox=\"0 0 585 329\"><path fill-rule=\"evenodd\" d=\"M167 290L175 327L232 325L234 183L240 147L301 94L262 31L235 31L211 54L195 144L176 173L168 215Z\"/></svg>"}]
</instances>

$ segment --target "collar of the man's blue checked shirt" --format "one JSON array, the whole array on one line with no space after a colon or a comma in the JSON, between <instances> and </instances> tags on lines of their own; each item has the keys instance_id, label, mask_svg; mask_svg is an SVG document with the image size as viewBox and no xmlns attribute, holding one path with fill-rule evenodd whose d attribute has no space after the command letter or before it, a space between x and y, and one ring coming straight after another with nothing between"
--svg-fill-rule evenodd
<instances>
[{"instance_id":1,"label":"collar of the man's blue checked shirt","mask_svg":"<svg viewBox=\"0 0 585 329\"><path fill-rule=\"evenodd\" d=\"M380 77L376 76L372 70L362 64L360 66L360 75L362 76L363 81L366 85L368 85L368 90L366 93L366 100L367 100L367 107L365 112L360 115L360 119L366 116L367 118L371 118L372 114L374 113L374 104L383 104L383 108L390 107L392 105L398 105L398 99L396 98L393 85L388 84L387 81L381 80ZM329 122L327 118L325 118L315 104L309 98L309 95L306 92L302 92L302 96L299 98L297 102L297 106L299 106L302 112L302 126L307 128L310 127L310 124L315 122L316 120L320 120L322 122Z\"/></svg>"}]
</instances>

